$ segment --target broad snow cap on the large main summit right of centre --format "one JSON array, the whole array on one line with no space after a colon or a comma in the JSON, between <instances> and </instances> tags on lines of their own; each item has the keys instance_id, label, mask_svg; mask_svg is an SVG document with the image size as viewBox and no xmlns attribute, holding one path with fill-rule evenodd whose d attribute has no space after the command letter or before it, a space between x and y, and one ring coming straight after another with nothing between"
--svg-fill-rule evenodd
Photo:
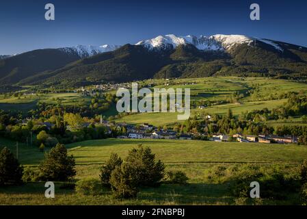
<instances>
[{"instance_id":1,"label":"broad snow cap on the large main summit right of centre","mask_svg":"<svg viewBox=\"0 0 307 219\"><path fill-rule=\"evenodd\" d=\"M269 44L275 49L282 51L281 47L271 40L223 34L213 36L176 36L168 34L137 42L137 45L142 45L148 49L174 49L181 44L193 44L196 48L204 51L229 51L238 44L252 44L255 40Z\"/></svg>"}]
</instances>

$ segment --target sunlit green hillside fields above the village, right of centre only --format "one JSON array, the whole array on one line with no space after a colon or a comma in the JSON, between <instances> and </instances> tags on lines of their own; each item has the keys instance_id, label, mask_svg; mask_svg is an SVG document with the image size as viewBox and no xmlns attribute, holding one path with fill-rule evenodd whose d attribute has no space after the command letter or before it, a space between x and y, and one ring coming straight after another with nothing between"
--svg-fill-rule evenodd
<instances>
[{"instance_id":1,"label":"sunlit green hillside fields above the village, right of centre only","mask_svg":"<svg viewBox=\"0 0 307 219\"><path fill-rule=\"evenodd\" d=\"M152 80L147 81L147 83ZM267 79L261 77L209 77L202 79L176 79L170 81L157 80L154 81L159 85L155 88L190 88L191 101L225 101L233 96L235 92L244 93L245 97L239 100L239 103L227 103L205 107L204 109L192 109L191 115L199 113L209 114L226 114L231 109L235 116L242 112L252 110L269 110L280 107L286 103L287 99L279 99L280 94L287 92L307 93L306 83L297 83L282 79ZM248 90L254 90L254 93L246 94ZM273 98L276 100L269 100ZM168 125L172 123L181 123L177 120L177 113L144 113L134 114L118 118L118 122L126 122L131 124L150 123L155 126ZM272 122L273 124L273 122ZM295 122L281 123L282 125L296 125ZM278 125L275 122L273 125Z\"/></svg>"}]
</instances>

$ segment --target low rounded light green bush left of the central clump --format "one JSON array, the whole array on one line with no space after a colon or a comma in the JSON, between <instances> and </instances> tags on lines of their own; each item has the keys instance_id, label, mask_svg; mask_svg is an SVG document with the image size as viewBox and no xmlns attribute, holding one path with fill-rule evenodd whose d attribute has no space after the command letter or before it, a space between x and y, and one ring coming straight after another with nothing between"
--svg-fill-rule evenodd
<instances>
[{"instance_id":1,"label":"low rounded light green bush left of the central clump","mask_svg":"<svg viewBox=\"0 0 307 219\"><path fill-rule=\"evenodd\" d=\"M103 185L99 179L81 179L77 181L77 194L96 196L103 193Z\"/></svg>"}]
</instances>

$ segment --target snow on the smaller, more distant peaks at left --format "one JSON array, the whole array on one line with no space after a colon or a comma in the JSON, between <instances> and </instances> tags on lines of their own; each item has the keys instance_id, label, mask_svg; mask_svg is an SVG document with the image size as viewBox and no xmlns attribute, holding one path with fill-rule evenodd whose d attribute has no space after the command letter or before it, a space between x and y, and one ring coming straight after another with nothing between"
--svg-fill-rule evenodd
<instances>
[{"instance_id":1,"label":"snow on the smaller, more distant peaks at left","mask_svg":"<svg viewBox=\"0 0 307 219\"><path fill-rule=\"evenodd\" d=\"M105 44L101 47L78 45L75 47L60 48L59 50L64 51L66 53L70 53L70 54L77 54L79 55L79 57L83 58L83 57L90 57L92 55L97 55L99 53L114 51L118 49L119 47L120 46L118 45L109 45L109 44Z\"/></svg>"}]
</instances>

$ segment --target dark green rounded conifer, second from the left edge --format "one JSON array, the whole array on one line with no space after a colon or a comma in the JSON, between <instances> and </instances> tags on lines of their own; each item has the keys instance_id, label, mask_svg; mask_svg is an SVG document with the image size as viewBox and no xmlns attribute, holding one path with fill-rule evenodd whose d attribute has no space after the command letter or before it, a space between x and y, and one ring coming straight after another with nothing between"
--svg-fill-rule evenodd
<instances>
[{"instance_id":1,"label":"dark green rounded conifer, second from the left edge","mask_svg":"<svg viewBox=\"0 0 307 219\"><path fill-rule=\"evenodd\" d=\"M39 169L42 180L68 181L76 175L75 158L67 155L64 144L57 144L49 153L46 153Z\"/></svg>"}]
</instances>

